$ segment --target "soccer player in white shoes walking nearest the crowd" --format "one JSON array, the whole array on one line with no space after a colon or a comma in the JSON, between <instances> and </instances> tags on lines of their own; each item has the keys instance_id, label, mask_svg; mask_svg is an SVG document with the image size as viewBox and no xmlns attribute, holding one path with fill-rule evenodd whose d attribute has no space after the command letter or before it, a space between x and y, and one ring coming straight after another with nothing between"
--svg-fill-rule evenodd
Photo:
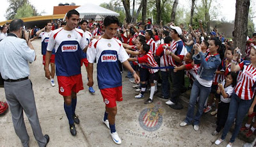
<instances>
[{"instance_id":1,"label":"soccer player in white shoes walking nearest the crowd","mask_svg":"<svg viewBox=\"0 0 256 147\"><path fill-rule=\"evenodd\" d=\"M88 86L93 86L93 63L97 62L97 79L100 92L106 111L104 114L103 123L110 128L111 137L116 144L122 143L115 128L115 116L117 112L116 101L122 101L122 75L118 66L118 60L127 68L133 75L135 81L140 82L140 77L132 69L128 54L120 40L116 40L113 36L116 35L119 21L116 17L108 16L104 19L105 33L98 39L92 40L86 52L88 65Z\"/></svg>"}]
</instances>

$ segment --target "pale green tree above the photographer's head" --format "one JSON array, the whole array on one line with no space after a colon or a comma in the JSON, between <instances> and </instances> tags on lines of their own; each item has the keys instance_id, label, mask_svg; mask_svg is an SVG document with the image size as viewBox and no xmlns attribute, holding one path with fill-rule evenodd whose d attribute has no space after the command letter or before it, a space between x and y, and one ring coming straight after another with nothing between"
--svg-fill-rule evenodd
<instances>
[{"instance_id":1,"label":"pale green tree above the photographer's head","mask_svg":"<svg viewBox=\"0 0 256 147\"><path fill-rule=\"evenodd\" d=\"M30 4L24 3L22 7L17 10L14 19L20 19L23 17L32 17L33 16L33 8Z\"/></svg>"}]
</instances>

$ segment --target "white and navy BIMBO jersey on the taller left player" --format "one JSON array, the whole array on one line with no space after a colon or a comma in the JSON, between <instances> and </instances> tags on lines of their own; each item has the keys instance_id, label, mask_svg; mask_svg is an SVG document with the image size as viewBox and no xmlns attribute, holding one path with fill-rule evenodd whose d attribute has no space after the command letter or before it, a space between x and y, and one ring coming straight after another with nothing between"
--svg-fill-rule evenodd
<instances>
[{"instance_id":1,"label":"white and navy BIMBO jersey on the taller left player","mask_svg":"<svg viewBox=\"0 0 256 147\"><path fill-rule=\"evenodd\" d=\"M86 45L82 29L67 31L60 27L52 31L47 50L55 49L56 75L69 77L81 74L81 52Z\"/></svg>"}]
</instances>

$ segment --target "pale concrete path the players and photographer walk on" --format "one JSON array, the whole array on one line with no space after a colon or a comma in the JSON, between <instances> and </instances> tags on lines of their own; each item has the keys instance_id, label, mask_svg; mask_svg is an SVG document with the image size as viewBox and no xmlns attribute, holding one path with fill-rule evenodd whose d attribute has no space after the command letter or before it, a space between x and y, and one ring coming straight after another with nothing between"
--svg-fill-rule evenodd
<instances>
[{"instance_id":1,"label":"pale concrete path the players and photographer walk on","mask_svg":"<svg viewBox=\"0 0 256 147\"><path fill-rule=\"evenodd\" d=\"M93 88L96 91L94 95L88 92L86 70L84 66L82 67L84 90L77 94L76 108L76 114L81 122L80 125L76 125L77 135L73 137L69 132L67 116L63 109L63 97L58 94L56 77L55 87L52 87L50 81L44 77L40 40L35 40L33 45L37 59L30 65L29 79L33 83L42 130L44 134L50 136L47 147L118 146L112 141L109 129L102 123L105 104L97 87L96 65L93 72L95 81ZM205 119L207 117L203 116L198 131L193 130L192 125L179 127L179 123L186 116L188 104L185 103L184 109L177 111L168 107L164 103L166 100L154 96L154 105L145 105L143 102L149 97L149 93L146 93L143 99L135 99L134 96L138 93L134 91L133 84L125 78L125 75L126 72L123 74L124 100L117 104L116 130L122 139L122 144L119 146L216 146L214 141L220 138L221 134L216 137L211 135L214 131L212 127L214 119ZM188 99L188 96L186 97ZM0 100L6 101L3 88L0 88ZM30 146L37 146L28 118L26 116L24 118L30 136ZM139 119L144 119L144 123L141 121L140 125ZM148 128L156 130L148 132L147 125ZM153 127L154 125L156 127ZM0 128L0 147L22 146L13 129L10 111L0 117ZM226 141L220 146L226 146L230 137L229 133ZM244 143L238 138L234 146L243 146Z\"/></svg>"}]
</instances>

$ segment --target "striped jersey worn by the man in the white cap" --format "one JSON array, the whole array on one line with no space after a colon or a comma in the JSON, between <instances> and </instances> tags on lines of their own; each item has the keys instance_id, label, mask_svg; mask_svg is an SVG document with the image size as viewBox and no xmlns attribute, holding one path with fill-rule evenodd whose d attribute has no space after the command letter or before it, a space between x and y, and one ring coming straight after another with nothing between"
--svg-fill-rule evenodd
<instances>
[{"instance_id":1,"label":"striped jersey worn by the man in the white cap","mask_svg":"<svg viewBox=\"0 0 256 147\"><path fill-rule=\"evenodd\" d=\"M174 40L172 40L171 42L171 46L170 46L172 53L175 54L176 56L179 56L179 58L181 60L183 60L184 56L188 53L186 47L184 47L184 43L182 42L182 40L178 40L177 42L175 42ZM174 65L182 65L182 63L177 63L172 56L169 55L169 65L170 66L174 66Z\"/></svg>"}]
</instances>

